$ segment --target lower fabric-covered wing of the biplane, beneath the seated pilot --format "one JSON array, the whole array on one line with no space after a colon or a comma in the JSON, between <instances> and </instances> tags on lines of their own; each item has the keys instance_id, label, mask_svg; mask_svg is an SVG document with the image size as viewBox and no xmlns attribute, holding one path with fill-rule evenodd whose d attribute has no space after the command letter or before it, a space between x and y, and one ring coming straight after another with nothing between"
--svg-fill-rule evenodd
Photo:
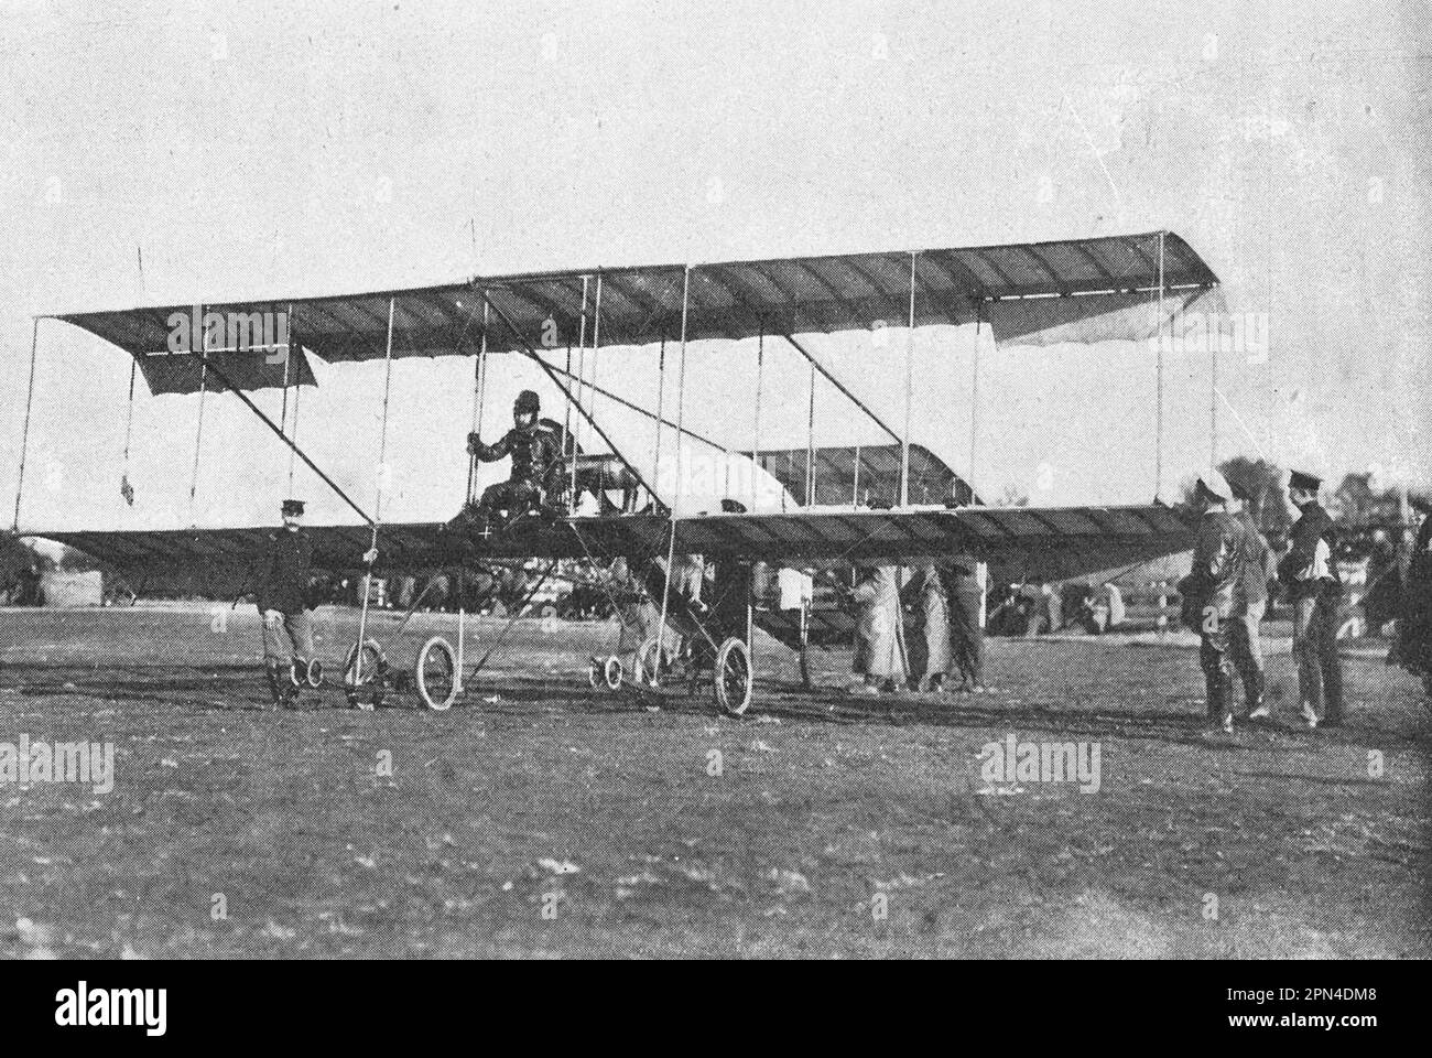
<instances>
[{"instance_id":1,"label":"lower fabric-covered wing of the biplane, beneath the seated pilot","mask_svg":"<svg viewBox=\"0 0 1432 1058\"><path fill-rule=\"evenodd\" d=\"M243 582L271 528L36 533L92 555L129 578L188 575ZM674 540L672 533L674 532ZM699 553L780 563L909 563L967 552L1001 576L1061 581L1193 546L1193 526L1163 505L1124 507L961 507L812 510L773 515L657 515L527 522L487 538L441 522L388 525L378 571L455 568L484 558L593 558ZM314 565L358 571L367 526L314 526ZM222 594L216 591L215 594Z\"/></svg>"}]
</instances>

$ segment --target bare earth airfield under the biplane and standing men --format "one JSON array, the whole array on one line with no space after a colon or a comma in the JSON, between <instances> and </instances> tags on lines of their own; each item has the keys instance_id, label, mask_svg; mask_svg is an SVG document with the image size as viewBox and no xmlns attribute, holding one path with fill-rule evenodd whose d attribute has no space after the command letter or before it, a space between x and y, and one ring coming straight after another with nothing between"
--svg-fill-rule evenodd
<instances>
[{"instance_id":1,"label":"bare earth airfield under the biplane and standing men","mask_svg":"<svg viewBox=\"0 0 1432 1058\"><path fill-rule=\"evenodd\" d=\"M355 625L321 611L331 671ZM1432 714L1370 651L1345 728L1296 724L1285 642L1277 721L1209 741L1174 644L992 641L997 694L875 701L765 644L732 720L590 690L613 641L523 621L448 713L279 713L251 606L0 611L0 741L116 771L0 783L0 956L1432 955ZM988 788L1011 733L1097 741L1100 788Z\"/></svg>"}]
</instances>

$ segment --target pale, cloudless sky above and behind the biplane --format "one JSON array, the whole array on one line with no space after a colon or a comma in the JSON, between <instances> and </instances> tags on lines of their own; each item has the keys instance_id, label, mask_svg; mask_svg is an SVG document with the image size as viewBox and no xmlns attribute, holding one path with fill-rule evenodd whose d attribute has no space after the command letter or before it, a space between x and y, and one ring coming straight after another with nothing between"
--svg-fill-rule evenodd
<instances>
[{"instance_id":1,"label":"pale, cloudless sky above and behind the biplane","mask_svg":"<svg viewBox=\"0 0 1432 1058\"><path fill-rule=\"evenodd\" d=\"M911 439L987 497L1047 505L1171 499L1233 454L1432 485L1425 4L4 0L0 16L7 522L36 314L1154 229L1267 334L1216 377L1206 354L1166 357L1161 483L1147 345L997 350L988 330L921 328ZM901 426L906 341L881 343L811 340ZM649 351L601 356L601 384L656 403ZM752 343L692 348L686 424L749 444L753 363ZM471 363L397 364L385 439L381 366L315 370L298 426L315 462L367 509L381 483L387 519L451 516ZM494 361L484 436L536 381ZM40 323L21 528L263 523L291 487L312 520L352 520L305 469L289 486L286 450L232 396L206 400L200 434L198 397L140 380L130 410L127 384L123 353ZM768 351L762 384L762 446L805 444L806 368ZM649 427L597 414L654 456ZM825 384L815 423L818 444L884 439Z\"/></svg>"}]
</instances>

